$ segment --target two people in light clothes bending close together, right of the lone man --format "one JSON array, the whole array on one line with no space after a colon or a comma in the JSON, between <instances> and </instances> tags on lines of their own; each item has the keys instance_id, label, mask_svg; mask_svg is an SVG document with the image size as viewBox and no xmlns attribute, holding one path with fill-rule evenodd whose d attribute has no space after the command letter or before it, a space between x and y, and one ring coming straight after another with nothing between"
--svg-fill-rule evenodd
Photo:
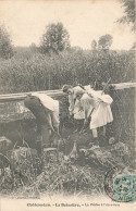
<instances>
[{"instance_id":1,"label":"two people in light clothes bending close together, right of the lone man","mask_svg":"<svg viewBox=\"0 0 136 211\"><path fill-rule=\"evenodd\" d=\"M82 133L89 124L92 132L94 144L99 146L98 128L102 127L106 136L106 125L113 121L111 103L113 99L103 92L95 90L90 86L82 87L64 85L63 92L69 95L70 115L74 116L75 123L78 122L77 131ZM82 128L78 127L83 122Z\"/></svg>"}]
</instances>

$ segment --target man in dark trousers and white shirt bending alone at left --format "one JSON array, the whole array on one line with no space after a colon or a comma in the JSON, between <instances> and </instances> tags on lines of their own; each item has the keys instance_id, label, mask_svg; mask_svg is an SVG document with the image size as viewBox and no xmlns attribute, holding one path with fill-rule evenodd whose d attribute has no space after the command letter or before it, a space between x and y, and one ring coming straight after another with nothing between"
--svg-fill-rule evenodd
<instances>
[{"instance_id":1,"label":"man in dark trousers and white shirt bending alone at left","mask_svg":"<svg viewBox=\"0 0 136 211\"><path fill-rule=\"evenodd\" d=\"M24 103L36 117L42 145L50 147L50 136L59 135L59 101L45 94L33 94L25 98Z\"/></svg>"}]
</instances>

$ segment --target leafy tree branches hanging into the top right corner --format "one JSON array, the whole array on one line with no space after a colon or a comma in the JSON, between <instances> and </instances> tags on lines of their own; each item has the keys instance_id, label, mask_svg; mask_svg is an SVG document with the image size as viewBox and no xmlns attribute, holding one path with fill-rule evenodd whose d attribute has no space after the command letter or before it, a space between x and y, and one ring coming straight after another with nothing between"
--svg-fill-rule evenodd
<instances>
[{"instance_id":1,"label":"leafy tree branches hanging into the top right corner","mask_svg":"<svg viewBox=\"0 0 136 211\"><path fill-rule=\"evenodd\" d=\"M124 8L124 15L118 20L120 23L132 24L132 30L135 32L135 0L120 0Z\"/></svg>"}]
</instances>

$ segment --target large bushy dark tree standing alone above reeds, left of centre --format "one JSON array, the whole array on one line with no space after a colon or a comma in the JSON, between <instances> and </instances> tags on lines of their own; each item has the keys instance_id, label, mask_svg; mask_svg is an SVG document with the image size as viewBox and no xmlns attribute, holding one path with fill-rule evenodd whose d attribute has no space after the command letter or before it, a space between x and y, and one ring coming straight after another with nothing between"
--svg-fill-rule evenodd
<instances>
[{"instance_id":1,"label":"large bushy dark tree standing alone above reeds, left of centre","mask_svg":"<svg viewBox=\"0 0 136 211\"><path fill-rule=\"evenodd\" d=\"M69 33L62 23L49 24L47 32L42 35L40 41L40 52L51 53L63 51L70 47Z\"/></svg>"}]
</instances>

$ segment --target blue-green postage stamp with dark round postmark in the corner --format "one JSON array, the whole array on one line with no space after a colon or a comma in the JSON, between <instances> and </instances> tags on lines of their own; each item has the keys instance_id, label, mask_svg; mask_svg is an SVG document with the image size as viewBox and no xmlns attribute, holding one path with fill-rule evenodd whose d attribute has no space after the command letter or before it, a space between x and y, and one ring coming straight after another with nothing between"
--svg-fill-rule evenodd
<instances>
[{"instance_id":1,"label":"blue-green postage stamp with dark round postmark in the corner","mask_svg":"<svg viewBox=\"0 0 136 211\"><path fill-rule=\"evenodd\" d=\"M118 167L111 169L104 177L104 190L114 201L136 201L136 174L125 174Z\"/></svg>"}]
</instances>

